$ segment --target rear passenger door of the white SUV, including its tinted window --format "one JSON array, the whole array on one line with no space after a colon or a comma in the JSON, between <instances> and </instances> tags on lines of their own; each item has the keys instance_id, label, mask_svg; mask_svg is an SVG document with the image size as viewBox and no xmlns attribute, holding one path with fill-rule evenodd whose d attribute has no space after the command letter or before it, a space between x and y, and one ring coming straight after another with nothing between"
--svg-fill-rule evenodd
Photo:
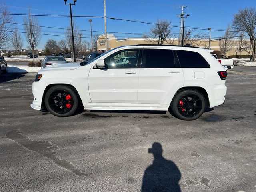
<instances>
[{"instance_id":1,"label":"rear passenger door of the white SUV, including its tinted window","mask_svg":"<svg viewBox=\"0 0 256 192\"><path fill-rule=\"evenodd\" d=\"M168 93L176 92L183 83L183 70L172 50L144 49L138 103L164 104Z\"/></svg>"}]
</instances>

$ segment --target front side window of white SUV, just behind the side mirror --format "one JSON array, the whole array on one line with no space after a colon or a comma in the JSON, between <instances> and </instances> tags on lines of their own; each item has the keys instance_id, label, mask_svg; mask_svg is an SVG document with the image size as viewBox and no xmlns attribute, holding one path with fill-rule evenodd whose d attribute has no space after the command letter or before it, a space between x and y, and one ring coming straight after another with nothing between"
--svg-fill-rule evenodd
<instances>
[{"instance_id":1,"label":"front side window of white SUV, just behind the side mirror","mask_svg":"<svg viewBox=\"0 0 256 192\"><path fill-rule=\"evenodd\" d=\"M108 68L137 68L140 50L123 50L105 59ZM138 66L139 67L139 66Z\"/></svg>"}]
</instances>

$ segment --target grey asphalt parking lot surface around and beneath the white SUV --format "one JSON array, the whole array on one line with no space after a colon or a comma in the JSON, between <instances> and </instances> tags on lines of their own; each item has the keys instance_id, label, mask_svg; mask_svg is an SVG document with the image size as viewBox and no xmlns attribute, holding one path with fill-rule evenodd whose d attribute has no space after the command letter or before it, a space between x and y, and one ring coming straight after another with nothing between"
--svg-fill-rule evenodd
<instances>
[{"instance_id":1,"label":"grey asphalt parking lot surface around and beneath the white SUV","mask_svg":"<svg viewBox=\"0 0 256 192\"><path fill-rule=\"evenodd\" d=\"M59 118L30 108L35 76L0 77L1 192L256 191L256 67L228 70L226 102L190 122L149 111Z\"/></svg>"}]
</instances>

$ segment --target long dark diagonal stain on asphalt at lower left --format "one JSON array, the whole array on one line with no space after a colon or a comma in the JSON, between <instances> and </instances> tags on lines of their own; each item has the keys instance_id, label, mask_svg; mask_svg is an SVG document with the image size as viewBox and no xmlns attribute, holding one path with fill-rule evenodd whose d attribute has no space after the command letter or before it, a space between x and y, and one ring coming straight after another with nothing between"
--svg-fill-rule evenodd
<instances>
[{"instance_id":1,"label":"long dark diagonal stain on asphalt at lower left","mask_svg":"<svg viewBox=\"0 0 256 192\"><path fill-rule=\"evenodd\" d=\"M38 152L39 154L45 156L46 158L52 160L58 166L61 166L67 170L72 171L78 176L89 176L75 168L71 163L66 160L61 160L56 157L56 151L59 149L55 144L52 144L50 141L34 141L28 138L28 136L22 134L19 130L12 130L6 134L6 137L14 140L20 146L28 148L31 151Z\"/></svg>"}]
</instances>

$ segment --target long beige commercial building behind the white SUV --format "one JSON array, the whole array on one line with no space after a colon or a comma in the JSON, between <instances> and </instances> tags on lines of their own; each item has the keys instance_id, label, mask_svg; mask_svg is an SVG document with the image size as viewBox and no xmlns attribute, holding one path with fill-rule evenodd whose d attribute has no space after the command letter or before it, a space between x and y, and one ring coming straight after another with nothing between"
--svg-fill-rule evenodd
<instances>
[{"instance_id":1,"label":"long beige commercial building behind the white SUV","mask_svg":"<svg viewBox=\"0 0 256 192\"><path fill-rule=\"evenodd\" d=\"M208 47L209 47L209 39L198 39L198 40L193 40L193 41L194 41L195 46L198 46L200 48L208 49ZM178 42L179 42L178 39L168 39L164 42L164 44L178 45ZM106 51L105 34L99 36L97 43L98 43L98 50L105 52ZM232 48L230 51L227 52L226 56L239 55L239 52L237 50L238 43L239 43L239 39L233 40ZM125 38L125 39L118 40L114 36L114 34L108 34L108 50L116 48L118 46L138 45L138 44L156 44L156 43L150 42L146 38ZM220 51L219 40L211 41L210 48L212 50ZM246 53L244 51L241 54L248 55L248 53Z\"/></svg>"}]
</instances>

